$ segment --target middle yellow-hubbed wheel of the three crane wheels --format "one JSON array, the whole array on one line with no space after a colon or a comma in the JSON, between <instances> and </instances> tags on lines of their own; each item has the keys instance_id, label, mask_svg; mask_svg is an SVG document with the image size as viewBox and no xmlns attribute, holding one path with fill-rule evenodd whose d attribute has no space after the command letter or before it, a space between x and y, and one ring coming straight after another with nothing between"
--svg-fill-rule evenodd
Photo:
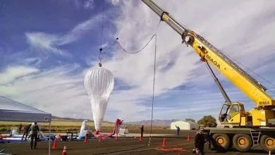
<instances>
[{"instance_id":1,"label":"middle yellow-hubbed wheel of the three crane wheels","mask_svg":"<svg viewBox=\"0 0 275 155\"><path fill-rule=\"evenodd\" d=\"M248 151L253 145L250 135L238 134L233 137L233 146L238 151Z\"/></svg>"}]
</instances>

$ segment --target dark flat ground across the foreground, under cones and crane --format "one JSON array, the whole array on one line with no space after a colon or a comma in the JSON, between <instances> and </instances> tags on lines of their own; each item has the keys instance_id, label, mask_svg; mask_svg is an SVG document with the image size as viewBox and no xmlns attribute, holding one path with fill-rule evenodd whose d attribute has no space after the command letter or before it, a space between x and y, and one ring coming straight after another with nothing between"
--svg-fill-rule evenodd
<instances>
[{"instance_id":1,"label":"dark flat ground across the foreground, under cones and crane","mask_svg":"<svg viewBox=\"0 0 275 155\"><path fill-rule=\"evenodd\" d=\"M187 136L190 135L190 141ZM166 138L166 147L162 147L164 137ZM87 143L83 142L57 142L58 149L51 149L51 154L62 154L63 147L66 144L67 154L192 154L193 132L185 132L181 137L174 135L151 137L150 146L149 137L144 137L140 142L139 137L118 137L109 138L98 142L90 139ZM206 154L224 154L207 148ZM0 144L0 150L5 149L6 154L48 154L48 142L39 142L37 149L30 149L29 143L22 144ZM52 142L51 142L52 147ZM236 149L231 149L226 154L267 154L259 148L253 148L248 152L240 153Z\"/></svg>"}]
</instances>

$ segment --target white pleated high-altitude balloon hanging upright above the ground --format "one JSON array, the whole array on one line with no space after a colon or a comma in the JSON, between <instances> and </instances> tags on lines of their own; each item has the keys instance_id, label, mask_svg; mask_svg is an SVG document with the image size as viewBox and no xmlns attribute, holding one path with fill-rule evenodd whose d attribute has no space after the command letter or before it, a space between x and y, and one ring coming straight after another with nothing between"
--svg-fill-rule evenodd
<instances>
[{"instance_id":1,"label":"white pleated high-altitude balloon hanging upright above the ground","mask_svg":"<svg viewBox=\"0 0 275 155\"><path fill-rule=\"evenodd\" d=\"M94 128L100 131L109 96L114 89L114 77L111 71L102 67L91 68L84 80L85 89L90 97Z\"/></svg>"}]
</instances>

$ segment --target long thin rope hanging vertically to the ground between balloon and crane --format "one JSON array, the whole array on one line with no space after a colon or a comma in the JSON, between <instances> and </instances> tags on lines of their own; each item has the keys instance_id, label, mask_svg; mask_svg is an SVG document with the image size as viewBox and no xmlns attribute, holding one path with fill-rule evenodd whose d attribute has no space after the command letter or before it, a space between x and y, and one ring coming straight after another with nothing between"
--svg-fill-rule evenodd
<instances>
[{"instance_id":1,"label":"long thin rope hanging vertically to the ground between balloon and crane","mask_svg":"<svg viewBox=\"0 0 275 155\"><path fill-rule=\"evenodd\" d=\"M153 123L153 112L154 112L154 84L155 84L155 77L156 77L156 61L157 61L157 34L155 36L154 42L154 77L153 77L153 96L152 96L152 111L151 111L151 125L150 125L150 136L148 147L150 148L151 144L151 135L152 135L152 123Z\"/></svg>"}]
</instances>

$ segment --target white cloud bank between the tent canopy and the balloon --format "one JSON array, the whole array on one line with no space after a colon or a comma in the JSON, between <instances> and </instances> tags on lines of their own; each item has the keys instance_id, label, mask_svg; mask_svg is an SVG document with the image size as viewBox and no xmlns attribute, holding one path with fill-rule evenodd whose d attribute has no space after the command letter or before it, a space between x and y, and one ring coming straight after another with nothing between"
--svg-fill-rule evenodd
<instances>
[{"instance_id":1,"label":"white cloud bank between the tent canopy and the balloon","mask_svg":"<svg viewBox=\"0 0 275 155\"><path fill-rule=\"evenodd\" d=\"M23 69L27 71L16 74ZM1 73L1 78L25 77L16 78L12 85L4 85L11 80L1 82L0 94L57 116L72 117L75 113L77 118L91 118L90 104L82 85L84 77L81 73L71 75L78 69L77 65L39 71L23 66L13 67Z\"/></svg>"}]
</instances>

